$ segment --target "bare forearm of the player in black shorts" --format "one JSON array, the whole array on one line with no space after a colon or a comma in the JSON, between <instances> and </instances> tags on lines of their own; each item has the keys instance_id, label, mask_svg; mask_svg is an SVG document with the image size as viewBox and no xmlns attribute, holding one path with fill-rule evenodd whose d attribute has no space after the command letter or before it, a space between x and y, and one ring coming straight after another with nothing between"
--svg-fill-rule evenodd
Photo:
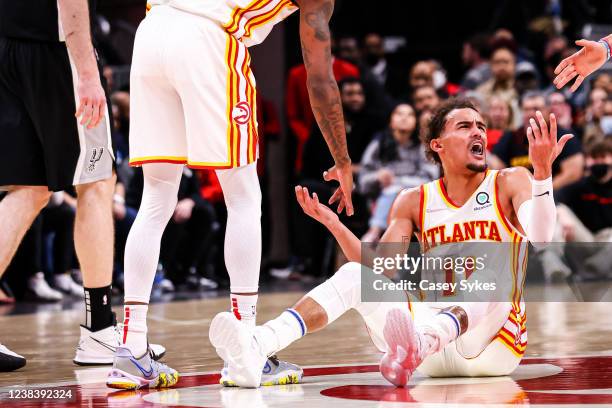
<instances>
[{"instance_id":1,"label":"bare forearm of the player in black shorts","mask_svg":"<svg viewBox=\"0 0 612 408\"><path fill-rule=\"evenodd\" d=\"M59 14L66 45L79 78L99 77L91 43L87 0L59 0Z\"/></svg>"}]
</instances>

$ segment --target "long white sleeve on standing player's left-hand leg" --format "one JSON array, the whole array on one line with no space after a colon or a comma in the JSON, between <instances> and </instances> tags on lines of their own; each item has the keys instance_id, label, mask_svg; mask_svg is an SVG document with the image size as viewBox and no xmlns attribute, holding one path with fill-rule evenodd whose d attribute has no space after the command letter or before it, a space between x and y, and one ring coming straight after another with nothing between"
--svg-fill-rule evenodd
<instances>
[{"instance_id":1,"label":"long white sleeve on standing player's left-hand leg","mask_svg":"<svg viewBox=\"0 0 612 408\"><path fill-rule=\"evenodd\" d=\"M126 302L149 302L161 238L176 208L183 165L145 164L143 173L142 202L125 245Z\"/></svg>"}]
</instances>

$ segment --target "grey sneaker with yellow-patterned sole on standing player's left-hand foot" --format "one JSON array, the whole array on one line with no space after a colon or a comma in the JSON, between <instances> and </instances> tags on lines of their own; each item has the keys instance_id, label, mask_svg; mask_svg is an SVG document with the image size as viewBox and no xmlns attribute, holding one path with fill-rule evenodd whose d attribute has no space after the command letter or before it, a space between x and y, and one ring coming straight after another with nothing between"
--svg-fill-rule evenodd
<instances>
[{"instance_id":1,"label":"grey sneaker with yellow-patterned sole on standing player's left-hand foot","mask_svg":"<svg viewBox=\"0 0 612 408\"><path fill-rule=\"evenodd\" d=\"M117 347L106 385L122 390L167 388L175 385L178 379L175 369L153 359L150 348L142 357L136 358L127 348Z\"/></svg>"}]
</instances>

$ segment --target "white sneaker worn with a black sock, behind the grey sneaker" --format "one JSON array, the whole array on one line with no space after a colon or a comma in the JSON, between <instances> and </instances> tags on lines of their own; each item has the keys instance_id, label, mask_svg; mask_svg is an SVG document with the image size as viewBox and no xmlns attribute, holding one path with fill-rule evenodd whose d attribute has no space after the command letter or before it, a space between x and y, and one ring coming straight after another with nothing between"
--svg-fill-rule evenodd
<instances>
[{"instance_id":1,"label":"white sneaker worn with a black sock, behind the grey sneaker","mask_svg":"<svg viewBox=\"0 0 612 408\"><path fill-rule=\"evenodd\" d=\"M117 324L106 329L92 332L81 326L81 338L77 346L74 364L80 366L113 364L115 351L121 346L123 325ZM150 344L154 360L166 354L166 348L159 344Z\"/></svg>"}]
</instances>

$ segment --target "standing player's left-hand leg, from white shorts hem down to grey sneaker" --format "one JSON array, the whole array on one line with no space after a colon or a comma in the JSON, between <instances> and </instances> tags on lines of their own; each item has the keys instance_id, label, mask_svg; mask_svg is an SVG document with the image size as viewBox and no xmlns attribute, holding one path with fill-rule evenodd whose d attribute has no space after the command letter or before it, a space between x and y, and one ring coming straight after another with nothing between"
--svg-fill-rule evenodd
<instances>
[{"instance_id":1,"label":"standing player's left-hand leg, from white shorts hem down to grey sneaker","mask_svg":"<svg viewBox=\"0 0 612 408\"><path fill-rule=\"evenodd\" d=\"M109 387L169 387L178 381L175 370L151 360L147 312L162 235L176 208L182 173L182 164L143 165L142 202L125 246L123 345L117 349ZM139 367L150 367L151 373Z\"/></svg>"}]
</instances>

